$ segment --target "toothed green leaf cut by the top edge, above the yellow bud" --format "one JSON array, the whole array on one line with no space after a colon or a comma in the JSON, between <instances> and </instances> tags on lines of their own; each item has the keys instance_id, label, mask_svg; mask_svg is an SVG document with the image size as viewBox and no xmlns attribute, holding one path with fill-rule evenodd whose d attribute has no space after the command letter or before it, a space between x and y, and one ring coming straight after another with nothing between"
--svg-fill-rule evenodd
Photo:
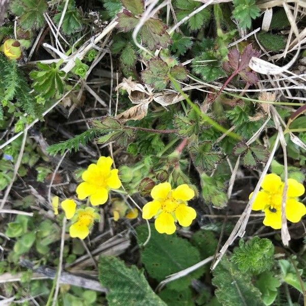
<instances>
[{"instance_id":1,"label":"toothed green leaf cut by the top edge, above the yellow bud","mask_svg":"<svg viewBox=\"0 0 306 306\"><path fill-rule=\"evenodd\" d=\"M13 14L20 16L21 27L30 30L43 26L43 14L47 11L48 6L45 0L14 0L10 8Z\"/></svg>"}]
</instances>

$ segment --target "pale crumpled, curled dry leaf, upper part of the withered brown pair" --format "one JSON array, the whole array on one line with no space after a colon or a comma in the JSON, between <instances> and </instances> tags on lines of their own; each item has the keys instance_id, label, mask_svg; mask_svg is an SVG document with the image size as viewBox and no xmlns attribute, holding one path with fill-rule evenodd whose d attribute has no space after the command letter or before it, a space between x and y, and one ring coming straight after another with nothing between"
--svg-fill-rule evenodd
<instances>
[{"instance_id":1,"label":"pale crumpled, curled dry leaf, upper part of the withered brown pair","mask_svg":"<svg viewBox=\"0 0 306 306\"><path fill-rule=\"evenodd\" d=\"M116 90L118 91L119 88L127 91L130 100L134 104L149 103L153 99L151 88L146 86L147 89L145 89L142 84L132 81L132 77L129 79L123 78Z\"/></svg>"}]
</instances>

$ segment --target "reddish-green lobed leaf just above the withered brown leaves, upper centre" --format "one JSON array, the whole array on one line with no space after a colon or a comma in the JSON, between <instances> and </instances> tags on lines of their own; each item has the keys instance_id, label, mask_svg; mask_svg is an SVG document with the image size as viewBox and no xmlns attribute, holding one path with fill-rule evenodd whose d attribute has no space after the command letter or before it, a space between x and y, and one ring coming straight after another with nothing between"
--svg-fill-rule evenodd
<instances>
[{"instance_id":1,"label":"reddish-green lobed leaf just above the withered brown leaves, upper centre","mask_svg":"<svg viewBox=\"0 0 306 306\"><path fill-rule=\"evenodd\" d=\"M148 66L141 72L144 83L154 86L156 89L165 89L171 79L186 80L187 70L182 65L169 66L160 58L151 59Z\"/></svg>"}]
</instances>

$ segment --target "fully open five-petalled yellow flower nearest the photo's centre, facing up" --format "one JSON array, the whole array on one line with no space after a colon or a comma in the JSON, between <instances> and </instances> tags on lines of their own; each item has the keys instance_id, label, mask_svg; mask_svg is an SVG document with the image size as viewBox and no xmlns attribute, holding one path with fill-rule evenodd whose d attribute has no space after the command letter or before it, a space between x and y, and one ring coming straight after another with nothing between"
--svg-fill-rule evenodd
<instances>
[{"instance_id":1,"label":"fully open five-petalled yellow flower nearest the photo's centre, facing up","mask_svg":"<svg viewBox=\"0 0 306 306\"><path fill-rule=\"evenodd\" d=\"M155 216L155 228L161 234L173 234L175 221L189 226L196 217L195 210L187 206L187 201L194 197L194 191L187 184L171 190L169 183L161 183L152 189L151 197L153 201L143 207L142 217L151 219Z\"/></svg>"}]
</instances>

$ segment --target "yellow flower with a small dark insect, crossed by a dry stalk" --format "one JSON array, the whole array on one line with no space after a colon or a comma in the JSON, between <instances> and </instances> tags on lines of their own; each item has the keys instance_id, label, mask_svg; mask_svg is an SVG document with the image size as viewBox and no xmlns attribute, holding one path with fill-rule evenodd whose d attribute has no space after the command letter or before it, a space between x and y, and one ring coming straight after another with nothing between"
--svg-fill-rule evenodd
<instances>
[{"instance_id":1,"label":"yellow flower with a small dark insect, crossed by a dry stalk","mask_svg":"<svg viewBox=\"0 0 306 306\"><path fill-rule=\"evenodd\" d=\"M263 223L275 230L282 227L282 196L284 183L281 177L274 173L267 174L262 182L262 190L257 194L252 210L265 212ZM293 222L299 222L306 214L306 207L296 197L305 192L302 184L294 179L288 179L288 190L286 198L286 218ZM251 198L253 193L249 195Z\"/></svg>"}]
</instances>

